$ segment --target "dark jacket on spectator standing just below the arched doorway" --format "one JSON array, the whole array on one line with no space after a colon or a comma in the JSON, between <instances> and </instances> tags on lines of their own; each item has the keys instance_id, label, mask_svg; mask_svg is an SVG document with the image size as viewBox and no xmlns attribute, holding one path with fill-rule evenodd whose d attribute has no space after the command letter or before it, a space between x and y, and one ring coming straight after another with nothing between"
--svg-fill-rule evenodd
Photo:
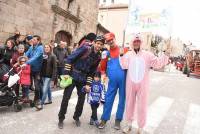
<instances>
[{"instance_id":1,"label":"dark jacket on spectator standing just below the arched doorway","mask_svg":"<svg viewBox=\"0 0 200 134\"><path fill-rule=\"evenodd\" d=\"M68 52L67 52L67 49L64 49L64 48L60 48L59 46L58 47L55 47L54 50L53 50L54 54L56 55L57 57L57 66L58 67L64 67L65 66L65 62L64 62L64 59L67 57L68 55Z\"/></svg>"}]
</instances>

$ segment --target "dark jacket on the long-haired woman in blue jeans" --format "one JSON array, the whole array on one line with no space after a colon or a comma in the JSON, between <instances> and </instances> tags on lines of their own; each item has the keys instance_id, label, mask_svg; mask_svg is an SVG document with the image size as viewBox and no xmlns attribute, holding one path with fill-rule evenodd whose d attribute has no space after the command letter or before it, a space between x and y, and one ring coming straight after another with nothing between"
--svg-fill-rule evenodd
<instances>
[{"instance_id":1,"label":"dark jacket on the long-haired woman in blue jeans","mask_svg":"<svg viewBox=\"0 0 200 134\"><path fill-rule=\"evenodd\" d=\"M57 63L56 56L54 54L44 55L42 63L42 77L56 78L57 74Z\"/></svg>"}]
</instances>

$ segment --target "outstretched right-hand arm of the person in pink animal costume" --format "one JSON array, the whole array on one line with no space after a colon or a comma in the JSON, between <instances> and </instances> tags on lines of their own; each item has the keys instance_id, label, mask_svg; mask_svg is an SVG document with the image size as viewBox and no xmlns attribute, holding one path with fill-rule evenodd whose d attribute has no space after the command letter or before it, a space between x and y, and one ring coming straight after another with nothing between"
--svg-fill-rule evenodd
<instances>
[{"instance_id":1,"label":"outstretched right-hand arm of the person in pink animal costume","mask_svg":"<svg viewBox=\"0 0 200 134\"><path fill-rule=\"evenodd\" d=\"M156 57L154 54L150 53L150 66L155 69L160 69L163 66L167 65L169 57L162 55L161 57Z\"/></svg>"}]
</instances>

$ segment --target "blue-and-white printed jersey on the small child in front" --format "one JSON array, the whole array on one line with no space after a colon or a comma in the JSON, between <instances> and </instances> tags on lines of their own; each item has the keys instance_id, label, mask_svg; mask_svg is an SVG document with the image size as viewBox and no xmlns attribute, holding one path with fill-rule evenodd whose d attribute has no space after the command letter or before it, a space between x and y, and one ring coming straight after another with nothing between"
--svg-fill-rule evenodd
<instances>
[{"instance_id":1,"label":"blue-and-white printed jersey on the small child in front","mask_svg":"<svg viewBox=\"0 0 200 134\"><path fill-rule=\"evenodd\" d=\"M85 93L85 87L83 87L82 92ZM91 90L87 94L87 102L91 105L96 105L105 103L105 86L101 84L101 81L93 81L91 84Z\"/></svg>"}]
</instances>

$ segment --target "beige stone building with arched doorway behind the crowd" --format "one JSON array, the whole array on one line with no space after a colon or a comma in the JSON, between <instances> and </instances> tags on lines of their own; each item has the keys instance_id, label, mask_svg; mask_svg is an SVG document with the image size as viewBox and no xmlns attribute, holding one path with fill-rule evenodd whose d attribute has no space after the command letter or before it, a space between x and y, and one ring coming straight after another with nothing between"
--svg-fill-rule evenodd
<instances>
[{"instance_id":1,"label":"beige stone building with arched doorway behind the crowd","mask_svg":"<svg viewBox=\"0 0 200 134\"><path fill-rule=\"evenodd\" d=\"M0 39L20 31L73 44L97 31L97 17L97 0L0 0Z\"/></svg>"}]
</instances>

